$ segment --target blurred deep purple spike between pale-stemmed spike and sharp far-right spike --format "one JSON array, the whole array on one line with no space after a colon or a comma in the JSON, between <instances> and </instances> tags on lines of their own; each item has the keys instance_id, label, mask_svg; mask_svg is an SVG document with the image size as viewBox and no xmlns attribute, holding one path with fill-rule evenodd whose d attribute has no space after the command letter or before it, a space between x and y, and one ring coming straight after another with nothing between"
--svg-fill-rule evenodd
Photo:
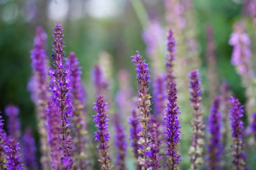
<instances>
[{"instance_id":1,"label":"blurred deep purple spike between pale-stemmed spike and sharp far-right spike","mask_svg":"<svg viewBox=\"0 0 256 170\"><path fill-rule=\"evenodd\" d=\"M222 158L221 121L220 97L217 96L214 98L214 103L212 103L209 118L210 141L208 146L208 169L222 169L220 167Z\"/></svg>"}]
</instances>

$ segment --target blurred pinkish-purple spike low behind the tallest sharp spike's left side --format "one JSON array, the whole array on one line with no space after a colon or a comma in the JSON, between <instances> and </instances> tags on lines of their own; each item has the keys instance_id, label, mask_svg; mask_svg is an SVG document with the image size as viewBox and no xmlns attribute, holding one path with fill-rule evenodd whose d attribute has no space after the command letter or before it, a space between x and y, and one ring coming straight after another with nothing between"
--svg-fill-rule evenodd
<instances>
[{"instance_id":1,"label":"blurred pinkish-purple spike low behind the tallest sharp spike's left side","mask_svg":"<svg viewBox=\"0 0 256 170\"><path fill-rule=\"evenodd\" d=\"M59 124L59 112L55 105L51 104L49 101L47 113L47 130L49 134L49 145L51 148L51 169L58 170L61 169L61 155L63 152L60 151L59 146L61 146L61 138L59 134L61 133L61 127Z\"/></svg>"}]
</instances>

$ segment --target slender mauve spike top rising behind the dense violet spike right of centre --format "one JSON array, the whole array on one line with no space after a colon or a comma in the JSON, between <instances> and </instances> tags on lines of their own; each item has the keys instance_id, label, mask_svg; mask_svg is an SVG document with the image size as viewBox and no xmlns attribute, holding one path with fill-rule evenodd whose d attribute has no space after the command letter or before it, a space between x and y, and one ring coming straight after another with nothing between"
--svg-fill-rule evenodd
<instances>
[{"instance_id":1,"label":"slender mauve spike top rising behind the dense violet spike right of centre","mask_svg":"<svg viewBox=\"0 0 256 170\"><path fill-rule=\"evenodd\" d=\"M168 42L167 42L167 50L169 52L169 54L166 56L166 63L165 63L165 67L166 67L166 88L170 89L170 82L174 81L175 76L174 76L174 71L173 71L173 67L174 67L174 59L176 56L176 41L174 39L173 36L173 32L170 29L168 32L168 38L167 38Z\"/></svg>"}]
</instances>

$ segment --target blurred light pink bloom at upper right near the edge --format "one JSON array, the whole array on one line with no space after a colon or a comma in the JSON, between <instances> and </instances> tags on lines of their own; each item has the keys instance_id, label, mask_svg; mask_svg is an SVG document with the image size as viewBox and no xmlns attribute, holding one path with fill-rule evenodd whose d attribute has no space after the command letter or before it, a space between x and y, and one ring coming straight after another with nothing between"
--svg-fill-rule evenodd
<instances>
[{"instance_id":1,"label":"blurred light pink bloom at upper right near the edge","mask_svg":"<svg viewBox=\"0 0 256 170\"><path fill-rule=\"evenodd\" d=\"M248 74L251 71L251 40L245 33L245 26L242 23L238 22L234 25L229 44L233 46L232 65L237 67L238 74Z\"/></svg>"}]
</instances>

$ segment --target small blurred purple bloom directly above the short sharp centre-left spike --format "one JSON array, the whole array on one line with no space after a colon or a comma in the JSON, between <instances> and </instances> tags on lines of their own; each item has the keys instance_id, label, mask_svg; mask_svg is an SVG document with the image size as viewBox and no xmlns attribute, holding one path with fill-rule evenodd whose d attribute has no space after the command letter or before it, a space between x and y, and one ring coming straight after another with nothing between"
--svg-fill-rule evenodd
<instances>
[{"instance_id":1,"label":"small blurred purple bloom directly above the short sharp centre-left spike","mask_svg":"<svg viewBox=\"0 0 256 170\"><path fill-rule=\"evenodd\" d=\"M106 91L108 83L106 83L102 69L99 65L95 65L94 69L92 69L92 81L96 88L96 95L102 94Z\"/></svg>"}]
</instances>

